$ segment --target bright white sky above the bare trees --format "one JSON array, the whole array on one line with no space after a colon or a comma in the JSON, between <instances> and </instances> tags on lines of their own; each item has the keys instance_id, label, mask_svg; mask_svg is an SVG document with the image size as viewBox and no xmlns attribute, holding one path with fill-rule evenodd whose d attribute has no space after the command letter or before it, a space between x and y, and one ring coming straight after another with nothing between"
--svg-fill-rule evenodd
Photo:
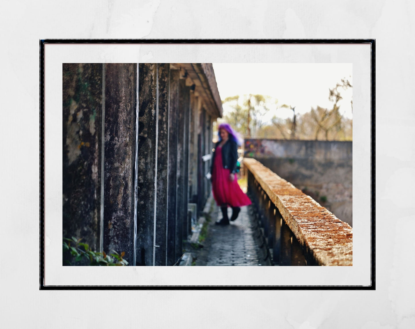
<instances>
[{"instance_id":1,"label":"bright white sky above the bare trees","mask_svg":"<svg viewBox=\"0 0 415 329\"><path fill-rule=\"evenodd\" d=\"M278 99L270 106L263 121L274 115L292 117L291 109L277 109L278 105L295 106L296 113L310 111L317 105L332 108L329 88L346 77L352 81L352 63L213 63L220 98L244 94L269 95ZM343 99L339 101L340 113L352 118L352 88L338 89ZM226 113L226 106L223 107Z\"/></svg>"}]
</instances>

